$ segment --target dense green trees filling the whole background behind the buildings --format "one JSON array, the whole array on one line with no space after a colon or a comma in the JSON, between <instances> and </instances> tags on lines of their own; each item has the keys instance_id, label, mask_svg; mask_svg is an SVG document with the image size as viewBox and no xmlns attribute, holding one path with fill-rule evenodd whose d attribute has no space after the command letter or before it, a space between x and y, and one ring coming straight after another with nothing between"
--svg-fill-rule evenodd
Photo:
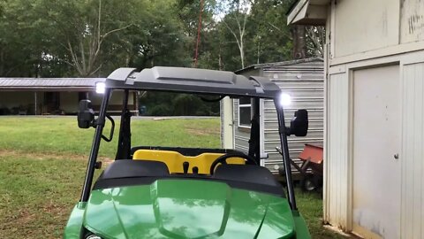
<instances>
[{"instance_id":1,"label":"dense green trees filling the whole background behind the buildings","mask_svg":"<svg viewBox=\"0 0 424 239\"><path fill-rule=\"evenodd\" d=\"M293 39L306 39L300 44L306 52L302 56L322 57L322 28L297 32L286 25L291 4L292 0L3 0L0 77L104 77L123 66L193 66L200 12L198 67L236 71L290 60ZM303 35L293 37L296 33ZM163 95L146 103L150 113L219 112L218 104L204 104L197 97L159 96ZM191 108L185 109L182 102Z\"/></svg>"}]
</instances>

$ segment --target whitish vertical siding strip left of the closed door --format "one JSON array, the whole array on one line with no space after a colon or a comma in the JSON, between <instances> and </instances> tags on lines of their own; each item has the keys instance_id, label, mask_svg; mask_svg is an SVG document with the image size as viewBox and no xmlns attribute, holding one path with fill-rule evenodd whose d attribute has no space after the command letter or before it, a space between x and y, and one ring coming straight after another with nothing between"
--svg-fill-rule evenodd
<instances>
[{"instance_id":1,"label":"whitish vertical siding strip left of the closed door","mask_svg":"<svg viewBox=\"0 0 424 239\"><path fill-rule=\"evenodd\" d=\"M349 200L349 80L347 73L329 76L328 138L325 164L327 168L324 221L346 228Z\"/></svg>"}]
</instances>

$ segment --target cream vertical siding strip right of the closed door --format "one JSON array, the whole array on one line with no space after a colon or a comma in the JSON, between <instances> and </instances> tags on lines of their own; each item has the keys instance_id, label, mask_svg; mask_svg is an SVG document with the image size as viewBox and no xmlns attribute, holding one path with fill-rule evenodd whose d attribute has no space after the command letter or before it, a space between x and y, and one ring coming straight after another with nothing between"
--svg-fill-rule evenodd
<instances>
[{"instance_id":1,"label":"cream vertical siding strip right of the closed door","mask_svg":"<svg viewBox=\"0 0 424 239\"><path fill-rule=\"evenodd\" d=\"M424 63L403 66L403 238L424 238Z\"/></svg>"}]
</instances>

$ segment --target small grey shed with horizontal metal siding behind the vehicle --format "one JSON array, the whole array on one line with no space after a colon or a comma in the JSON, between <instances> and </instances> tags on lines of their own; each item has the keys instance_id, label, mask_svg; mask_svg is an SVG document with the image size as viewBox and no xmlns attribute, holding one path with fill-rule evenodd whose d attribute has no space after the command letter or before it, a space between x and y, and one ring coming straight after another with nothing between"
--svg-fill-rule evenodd
<instances>
[{"instance_id":1,"label":"small grey shed with horizontal metal siding behind the vehicle","mask_svg":"<svg viewBox=\"0 0 424 239\"><path fill-rule=\"evenodd\" d=\"M299 153L305 143L322 146L323 139L323 60L322 58L300 59L249 66L236 72L247 77L262 76L274 81L284 93L292 97L292 103L284 106L286 125L299 109L309 113L309 130L306 137L289 136L291 158L299 162ZM250 98L231 100L231 111L222 111L223 148L248 151L250 121L253 116ZM225 103L224 103L225 104ZM223 104L222 104L223 106ZM223 107L222 107L223 109ZM283 158L276 151L279 145L278 121L273 100L261 99L261 165L273 173L283 167ZM230 124L226 123L230 121ZM228 124L228 125L227 125ZM268 158L267 158L268 157Z\"/></svg>"}]
</instances>

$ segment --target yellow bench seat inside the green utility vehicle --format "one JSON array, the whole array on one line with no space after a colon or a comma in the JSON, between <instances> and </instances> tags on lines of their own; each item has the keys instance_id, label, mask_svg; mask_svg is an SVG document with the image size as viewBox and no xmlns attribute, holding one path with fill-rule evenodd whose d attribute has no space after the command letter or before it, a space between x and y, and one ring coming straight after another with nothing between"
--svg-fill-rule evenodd
<instances>
[{"instance_id":1,"label":"yellow bench seat inside the green utility vehicle","mask_svg":"<svg viewBox=\"0 0 424 239\"><path fill-rule=\"evenodd\" d=\"M202 153L198 156L185 156L177 151L171 150L136 150L133 154L134 160L160 161L168 166L170 173L184 173L183 163L188 162L188 173L193 173L193 167L197 166L198 173L209 174L210 166L216 158L223 153ZM227 163L244 165L244 158L228 158Z\"/></svg>"}]
</instances>

